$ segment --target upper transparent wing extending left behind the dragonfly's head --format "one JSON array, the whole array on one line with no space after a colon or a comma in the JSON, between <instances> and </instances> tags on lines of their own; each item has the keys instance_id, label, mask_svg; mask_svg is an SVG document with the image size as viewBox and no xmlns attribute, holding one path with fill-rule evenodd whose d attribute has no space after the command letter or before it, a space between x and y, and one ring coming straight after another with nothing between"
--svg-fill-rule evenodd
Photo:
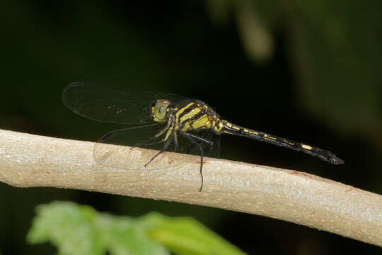
<instances>
[{"instance_id":1,"label":"upper transparent wing extending left behind the dragonfly's head","mask_svg":"<svg viewBox=\"0 0 382 255\"><path fill-rule=\"evenodd\" d=\"M121 124L153 123L151 104L164 98L174 105L187 100L175 94L123 91L81 82L70 84L62 94L65 106L74 113L91 120Z\"/></svg>"}]
</instances>

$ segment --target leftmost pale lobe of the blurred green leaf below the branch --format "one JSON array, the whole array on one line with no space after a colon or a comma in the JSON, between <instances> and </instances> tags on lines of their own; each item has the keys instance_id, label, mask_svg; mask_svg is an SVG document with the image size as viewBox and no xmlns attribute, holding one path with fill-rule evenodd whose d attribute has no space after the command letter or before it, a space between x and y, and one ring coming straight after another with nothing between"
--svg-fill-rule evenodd
<instances>
[{"instance_id":1,"label":"leftmost pale lobe of the blurred green leaf below the branch","mask_svg":"<svg viewBox=\"0 0 382 255\"><path fill-rule=\"evenodd\" d=\"M31 244L50 241L59 254L104 254L93 225L95 217L92 208L73 203L39 205L27 240Z\"/></svg>"}]
</instances>

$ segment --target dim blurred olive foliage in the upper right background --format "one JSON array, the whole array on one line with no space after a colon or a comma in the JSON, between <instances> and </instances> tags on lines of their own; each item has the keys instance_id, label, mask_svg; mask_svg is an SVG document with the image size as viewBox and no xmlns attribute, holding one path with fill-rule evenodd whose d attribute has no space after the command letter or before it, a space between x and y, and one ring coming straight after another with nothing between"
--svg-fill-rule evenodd
<instances>
[{"instance_id":1,"label":"dim blurred olive foliage in the upper right background","mask_svg":"<svg viewBox=\"0 0 382 255\"><path fill-rule=\"evenodd\" d=\"M381 147L381 1L208 2L216 23L233 11L255 62L270 60L274 30L282 29L306 110L348 134L371 132Z\"/></svg>"}]
</instances>

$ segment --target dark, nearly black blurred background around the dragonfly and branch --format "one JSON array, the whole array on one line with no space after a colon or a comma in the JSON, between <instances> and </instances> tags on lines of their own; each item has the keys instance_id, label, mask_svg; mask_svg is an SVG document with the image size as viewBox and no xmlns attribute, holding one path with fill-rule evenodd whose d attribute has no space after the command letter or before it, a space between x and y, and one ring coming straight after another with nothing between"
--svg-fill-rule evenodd
<instances>
[{"instance_id":1,"label":"dark, nearly black blurred background around the dragonfly and branch","mask_svg":"<svg viewBox=\"0 0 382 255\"><path fill-rule=\"evenodd\" d=\"M221 157L309 171L382 193L381 1L2 1L2 129L96 141L112 127L66 109L73 81L199 98L237 125L330 149L332 166L222 137ZM380 254L289 222L196 205L0 183L1 254L28 245L34 208L52 200L115 215L189 215L249 254Z\"/></svg>"}]
</instances>

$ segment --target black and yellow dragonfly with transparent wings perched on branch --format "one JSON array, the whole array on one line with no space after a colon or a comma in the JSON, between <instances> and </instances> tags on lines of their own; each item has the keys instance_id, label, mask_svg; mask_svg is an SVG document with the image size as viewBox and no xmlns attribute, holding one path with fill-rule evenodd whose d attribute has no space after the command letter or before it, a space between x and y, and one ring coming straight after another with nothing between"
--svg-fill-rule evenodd
<instances>
[{"instance_id":1,"label":"black and yellow dragonfly with transparent wings perched on branch","mask_svg":"<svg viewBox=\"0 0 382 255\"><path fill-rule=\"evenodd\" d=\"M100 137L93 149L96 162L118 169L160 170L164 173L166 171L161 162L168 160L166 154L199 155L199 191L203 188L204 157L219 157L220 137L223 134L248 137L305 152L335 165L344 164L342 159L328 150L234 125L221 119L207 103L176 94L124 91L75 82L64 89L62 98L67 108L85 118L129 125ZM105 147L110 144L117 146L112 149ZM138 154L135 148L149 151ZM124 164L117 160L129 154L132 161ZM192 157L179 164L189 159Z\"/></svg>"}]
</instances>

